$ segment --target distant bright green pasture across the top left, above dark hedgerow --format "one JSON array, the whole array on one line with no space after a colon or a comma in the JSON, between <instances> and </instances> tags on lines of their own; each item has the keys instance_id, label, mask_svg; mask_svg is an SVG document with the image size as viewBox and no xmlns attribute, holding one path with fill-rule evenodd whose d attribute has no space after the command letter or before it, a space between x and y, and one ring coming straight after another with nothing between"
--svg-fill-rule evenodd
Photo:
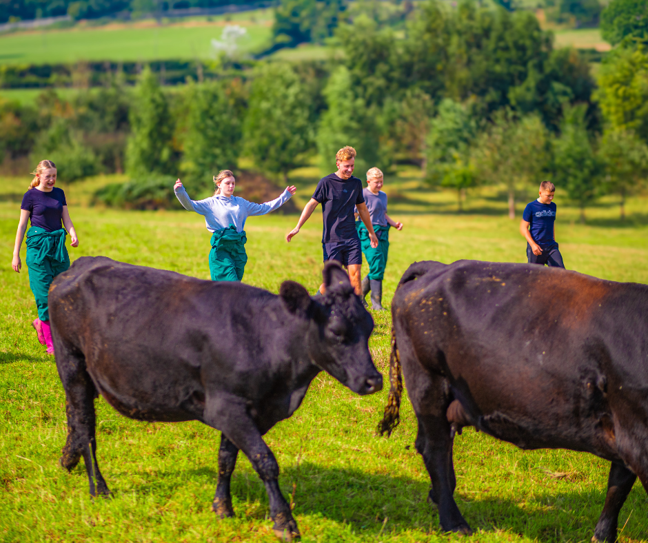
<instances>
[{"instance_id":1,"label":"distant bright green pasture across the top left, above dark hedgerow","mask_svg":"<svg viewBox=\"0 0 648 543\"><path fill-rule=\"evenodd\" d=\"M272 12L255 10L161 25L143 21L3 34L0 63L210 59L211 41L221 38L226 24L238 24L247 30L247 37L239 42L243 52L259 50L270 40Z\"/></svg>"}]
</instances>

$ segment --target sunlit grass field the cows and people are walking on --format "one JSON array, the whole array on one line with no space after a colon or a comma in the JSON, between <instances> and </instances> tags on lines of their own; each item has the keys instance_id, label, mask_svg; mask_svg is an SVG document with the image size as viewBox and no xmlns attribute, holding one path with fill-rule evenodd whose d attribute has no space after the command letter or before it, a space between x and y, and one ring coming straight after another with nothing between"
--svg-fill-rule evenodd
<instances>
[{"instance_id":1,"label":"sunlit grass field the cows and people are walking on","mask_svg":"<svg viewBox=\"0 0 648 543\"><path fill-rule=\"evenodd\" d=\"M413 260L460 258L524 261L517 221L505 217L498 189L471 194L455 213L452 192L421 189L413 172L387 180L390 214L405 223L392 232L386 302ZM19 202L29 179L0 179L0 541L3 542L274 542L263 484L240 457L232 480L237 517L210 511L219 436L198 422L149 424L123 418L97 400L98 458L111 500L93 502L83 462L72 474L58 467L65 441L64 396L54 360L29 326L35 316L26 269L10 258ZM125 262L208 278L209 234L188 212L121 212L87 206L108 181L62 185L80 245L70 256L102 254ZM296 172L301 203L312 171ZM560 191L556 233L567 266L614 280L648 283L647 201L629 203L629 221L605 201L575 223ZM519 207L521 209L521 205ZM250 256L245 283L277 291L291 278L314 291L321 279L321 215L288 245L296 216L247 222ZM24 247L24 246L23 246ZM23 249L24 262L24 249ZM370 347L387 373L389 315L374 313ZM267 434L281 467L284 494L305 542L441 542L426 502L429 478L414 450L416 424L403 402L401 426L380 439L375 428L387 395L354 396L325 374L303 407ZM476 535L472 542L580 542L591 538L603 507L608 463L571 451L523 452L467 429L455 442L456 498ZM647 495L636 484L620 515L622 542L648 541Z\"/></svg>"}]
</instances>

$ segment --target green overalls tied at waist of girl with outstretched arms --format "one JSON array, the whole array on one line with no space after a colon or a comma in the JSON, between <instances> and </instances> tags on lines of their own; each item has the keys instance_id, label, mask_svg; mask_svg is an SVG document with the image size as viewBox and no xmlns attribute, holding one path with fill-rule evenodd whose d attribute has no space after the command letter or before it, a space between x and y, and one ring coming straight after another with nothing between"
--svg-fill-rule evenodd
<instances>
[{"instance_id":1,"label":"green overalls tied at waist of girl with outstretched arms","mask_svg":"<svg viewBox=\"0 0 648 543\"><path fill-rule=\"evenodd\" d=\"M212 281L240 281L245 272L247 254L245 253L245 230L236 232L236 227L216 230L212 234L210 251L210 274Z\"/></svg>"}]
</instances>

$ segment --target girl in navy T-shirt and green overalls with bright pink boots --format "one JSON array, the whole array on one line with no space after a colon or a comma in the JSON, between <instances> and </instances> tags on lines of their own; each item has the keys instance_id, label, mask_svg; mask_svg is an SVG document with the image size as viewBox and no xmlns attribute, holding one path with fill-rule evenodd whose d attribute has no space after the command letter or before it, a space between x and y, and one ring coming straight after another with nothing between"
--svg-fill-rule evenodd
<instances>
[{"instance_id":1,"label":"girl in navy T-shirt and green overalls with bright pink boots","mask_svg":"<svg viewBox=\"0 0 648 543\"><path fill-rule=\"evenodd\" d=\"M36 298L38 309L38 318L32 322L32 326L36 329L41 345L47 346L48 354L54 354L48 314L48 291L54 277L70 267L70 257L65 249L65 235L69 232L72 247L78 247L79 239L68 213L65 193L59 187L54 187L57 182L57 165L52 161L40 161L32 175L34 178L20 206L11 267L14 272L20 273L20 247L29 220L32 225L27 230L26 262L29 286Z\"/></svg>"}]
</instances>

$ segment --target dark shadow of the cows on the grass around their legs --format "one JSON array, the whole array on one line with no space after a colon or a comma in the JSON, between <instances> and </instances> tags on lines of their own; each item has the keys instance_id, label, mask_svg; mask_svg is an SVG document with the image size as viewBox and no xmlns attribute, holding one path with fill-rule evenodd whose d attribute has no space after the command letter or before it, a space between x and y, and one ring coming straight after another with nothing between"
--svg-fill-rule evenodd
<instances>
[{"instance_id":1,"label":"dark shadow of the cows on the grass around their legs","mask_svg":"<svg viewBox=\"0 0 648 543\"><path fill-rule=\"evenodd\" d=\"M199 484L213 486L215 490L217 478L216 465L213 469L188 469L181 477L175 471L161 472L149 484L136 487L136 492L172 493L181 484L179 481L188 480L200 480ZM418 480L301 462L298 466L282 466L280 483L285 498L294 498L296 516L326 518L365 535L412 530L441 533L436 506L427 503L429 480L425 471ZM234 471L232 498L239 518L266 518L267 494L256 473L240 467ZM471 498L460 492L455 493L455 499L475 531L508 531L530 540L558 542L589 540L603 510L605 494L603 490L543 493L540 488L519 502L487 495ZM627 517L631 509L636 513L643 511L645 501L643 490L640 485L636 486L620 517ZM250 507L252 504L257 506ZM205 508L209 506L210 501L206 501ZM214 522L219 521L214 518ZM620 526L623 522L621 518ZM638 524L629 525L624 531L624 536L630 539L640 540L645 535Z\"/></svg>"}]
</instances>

